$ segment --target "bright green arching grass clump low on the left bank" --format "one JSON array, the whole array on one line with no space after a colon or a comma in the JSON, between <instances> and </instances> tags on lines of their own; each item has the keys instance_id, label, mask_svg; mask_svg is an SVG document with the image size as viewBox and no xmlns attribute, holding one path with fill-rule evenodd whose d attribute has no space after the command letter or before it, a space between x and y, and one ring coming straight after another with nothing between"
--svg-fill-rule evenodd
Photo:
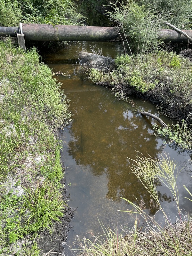
<instances>
[{"instance_id":1,"label":"bright green arching grass clump low on the left bank","mask_svg":"<svg viewBox=\"0 0 192 256\"><path fill-rule=\"evenodd\" d=\"M66 204L51 183L38 184L37 188L28 188L25 192L22 211L27 214L27 229L41 230L52 227L53 220L60 222L59 218L63 217Z\"/></svg>"}]
</instances>

